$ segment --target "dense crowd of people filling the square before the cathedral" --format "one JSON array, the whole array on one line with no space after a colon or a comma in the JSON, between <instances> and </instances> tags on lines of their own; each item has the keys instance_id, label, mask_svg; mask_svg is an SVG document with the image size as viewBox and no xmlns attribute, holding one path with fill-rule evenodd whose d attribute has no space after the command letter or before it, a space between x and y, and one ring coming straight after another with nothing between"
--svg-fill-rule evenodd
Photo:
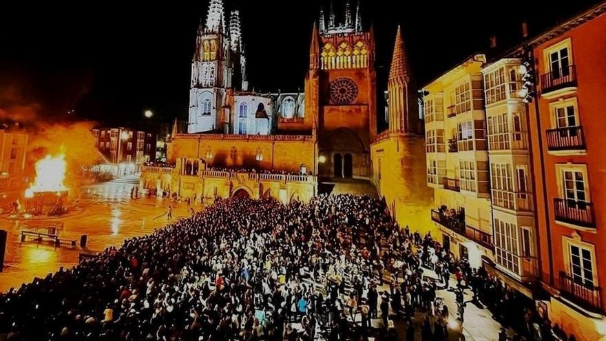
<instances>
[{"instance_id":1,"label":"dense crowd of people filling the square before the cathedral","mask_svg":"<svg viewBox=\"0 0 606 341\"><path fill-rule=\"evenodd\" d=\"M536 337L536 317L496 279L352 195L219 200L1 295L0 338L441 341L446 289L461 323L471 290L520 340L554 340Z\"/></svg>"}]
</instances>

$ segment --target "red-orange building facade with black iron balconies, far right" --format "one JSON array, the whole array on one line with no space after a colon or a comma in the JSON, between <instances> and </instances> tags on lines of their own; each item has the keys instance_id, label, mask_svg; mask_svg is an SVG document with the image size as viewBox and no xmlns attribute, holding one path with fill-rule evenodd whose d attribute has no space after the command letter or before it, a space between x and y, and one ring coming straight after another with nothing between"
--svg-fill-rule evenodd
<instances>
[{"instance_id":1,"label":"red-orange building facade with black iron balconies, far right","mask_svg":"<svg viewBox=\"0 0 606 341\"><path fill-rule=\"evenodd\" d=\"M601 3L527 44L541 280L551 320L578 340L606 337L605 13Z\"/></svg>"}]
</instances>

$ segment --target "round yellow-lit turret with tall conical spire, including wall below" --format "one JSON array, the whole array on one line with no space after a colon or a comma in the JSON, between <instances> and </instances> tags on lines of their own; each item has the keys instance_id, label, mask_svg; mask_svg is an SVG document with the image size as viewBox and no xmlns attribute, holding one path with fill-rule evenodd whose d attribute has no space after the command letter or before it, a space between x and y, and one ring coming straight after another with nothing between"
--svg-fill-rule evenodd
<instances>
[{"instance_id":1,"label":"round yellow-lit turret with tall conical spire, including wall below","mask_svg":"<svg viewBox=\"0 0 606 341\"><path fill-rule=\"evenodd\" d=\"M373 184L385 197L401 227L433 231L429 214L432 191L425 184L425 143L419 120L417 87L408 68L401 30L398 29L388 79L389 128L370 145Z\"/></svg>"}]
</instances>

